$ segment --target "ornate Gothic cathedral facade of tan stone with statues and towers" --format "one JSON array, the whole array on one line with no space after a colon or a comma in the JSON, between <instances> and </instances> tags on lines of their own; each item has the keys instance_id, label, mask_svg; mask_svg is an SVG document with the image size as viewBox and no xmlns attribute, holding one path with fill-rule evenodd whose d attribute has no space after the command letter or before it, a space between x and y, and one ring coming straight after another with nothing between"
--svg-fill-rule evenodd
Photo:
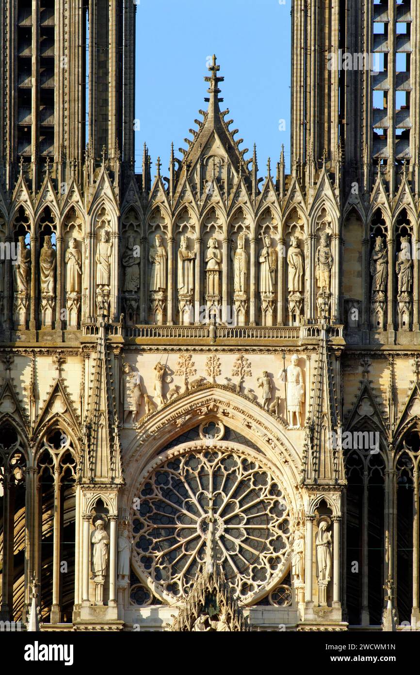
<instances>
[{"instance_id":1,"label":"ornate Gothic cathedral facade of tan stone with statues and towers","mask_svg":"<svg viewBox=\"0 0 420 675\"><path fill-rule=\"evenodd\" d=\"M136 3L0 11L0 619L418 625L419 0L292 2L290 174L213 57L153 180Z\"/></svg>"}]
</instances>

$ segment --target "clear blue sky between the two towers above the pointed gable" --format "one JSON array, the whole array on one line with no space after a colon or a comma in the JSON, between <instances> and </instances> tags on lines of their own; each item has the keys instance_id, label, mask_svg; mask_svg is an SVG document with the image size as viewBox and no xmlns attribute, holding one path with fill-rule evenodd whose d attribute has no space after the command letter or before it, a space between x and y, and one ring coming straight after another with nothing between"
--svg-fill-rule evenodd
<instances>
[{"instance_id":1,"label":"clear blue sky between the two towers above the pointed gable","mask_svg":"<svg viewBox=\"0 0 420 675\"><path fill-rule=\"evenodd\" d=\"M136 0L136 167L146 142L153 175L160 155L167 175L171 141L185 147L206 110L206 61L216 54L231 129L241 149L257 144L260 175L272 174L281 144L290 159L291 0ZM286 129L279 130L279 120ZM176 152L181 158L181 153ZM247 155L248 156L248 155Z\"/></svg>"}]
</instances>

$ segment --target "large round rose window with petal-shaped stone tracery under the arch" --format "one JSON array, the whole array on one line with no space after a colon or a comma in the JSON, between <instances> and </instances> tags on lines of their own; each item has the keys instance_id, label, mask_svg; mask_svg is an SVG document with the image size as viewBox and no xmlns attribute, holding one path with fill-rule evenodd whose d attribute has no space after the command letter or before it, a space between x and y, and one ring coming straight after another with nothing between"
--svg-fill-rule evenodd
<instances>
[{"instance_id":1,"label":"large round rose window with petal-shaped stone tracery under the arch","mask_svg":"<svg viewBox=\"0 0 420 675\"><path fill-rule=\"evenodd\" d=\"M133 512L133 567L169 601L202 568L223 570L240 599L286 572L289 508L262 459L214 446L179 450L150 471Z\"/></svg>"}]
</instances>

